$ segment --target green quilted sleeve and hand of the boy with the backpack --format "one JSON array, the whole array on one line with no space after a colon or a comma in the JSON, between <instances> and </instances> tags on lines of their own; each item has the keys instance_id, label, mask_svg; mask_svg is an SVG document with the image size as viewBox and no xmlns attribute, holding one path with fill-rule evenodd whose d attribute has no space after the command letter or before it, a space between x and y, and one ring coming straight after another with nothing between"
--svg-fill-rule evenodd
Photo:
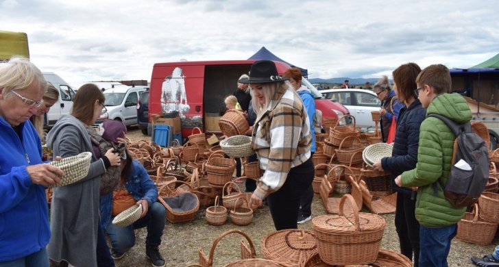
<instances>
[{"instance_id":1,"label":"green quilted sleeve and hand of the boy with the backpack","mask_svg":"<svg viewBox=\"0 0 499 267\"><path fill-rule=\"evenodd\" d=\"M419 133L416 168L402 173L402 186L419 187L435 183L442 175L443 152L435 121L424 120Z\"/></svg>"}]
</instances>

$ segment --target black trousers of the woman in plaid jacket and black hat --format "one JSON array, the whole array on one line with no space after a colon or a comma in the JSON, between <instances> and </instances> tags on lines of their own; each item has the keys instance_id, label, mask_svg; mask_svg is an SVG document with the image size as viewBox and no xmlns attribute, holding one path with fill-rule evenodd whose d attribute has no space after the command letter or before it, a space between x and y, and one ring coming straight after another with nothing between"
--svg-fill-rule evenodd
<instances>
[{"instance_id":1,"label":"black trousers of the woman in plaid jacket and black hat","mask_svg":"<svg viewBox=\"0 0 499 267\"><path fill-rule=\"evenodd\" d=\"M276 230L297 229L298 209L303 192L314 179L314 166L311 159L291 168L282 187L267 197L273 225Z\"/></svg>"}]
</instances>

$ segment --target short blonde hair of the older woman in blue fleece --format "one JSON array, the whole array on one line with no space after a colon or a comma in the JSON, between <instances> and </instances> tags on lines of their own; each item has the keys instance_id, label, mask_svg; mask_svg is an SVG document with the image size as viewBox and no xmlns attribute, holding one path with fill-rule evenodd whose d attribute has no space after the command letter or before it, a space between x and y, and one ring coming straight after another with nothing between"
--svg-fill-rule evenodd
<instances>
[{"instance_id":1,"label":"short blonde hair of the older woman in blue fleece","mask_svg":"<svg viewBox=\"0 0 499 267\"><path fill-rule=\"evenodd\" d=\"M42 72L27 58L14 56L0 67L0 90L4 96L11 90L25 90L32 84L43 92L47 90Z\"/></svg>"}]
</instances>

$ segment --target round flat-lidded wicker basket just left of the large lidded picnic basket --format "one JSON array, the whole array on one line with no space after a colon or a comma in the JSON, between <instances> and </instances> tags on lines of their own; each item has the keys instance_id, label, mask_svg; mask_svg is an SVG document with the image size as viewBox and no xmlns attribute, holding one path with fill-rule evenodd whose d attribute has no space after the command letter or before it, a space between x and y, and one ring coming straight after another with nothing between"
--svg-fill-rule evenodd
<instances>
[{"instance_id":1,"label":"round flat-lidded wicker basket just left of the large lidded picnic basket","mask_svg":"<svg viewBox=\"0 0 499 267\"><path fill-rule=\"evenodd\" d=\"M317 253L313 231L286 229L268 233L260 243L265 259L300 266L300 262Z\"/></svg>"}]
</instances>

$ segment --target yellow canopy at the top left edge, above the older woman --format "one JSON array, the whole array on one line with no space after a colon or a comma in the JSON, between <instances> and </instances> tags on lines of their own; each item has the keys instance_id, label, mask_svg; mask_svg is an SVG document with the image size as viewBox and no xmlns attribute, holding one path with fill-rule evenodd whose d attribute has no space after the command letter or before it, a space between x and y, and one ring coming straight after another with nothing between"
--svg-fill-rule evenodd
<instances>
[{"instance_id":1,"label":"yellow canopy at the top left edge, above the older woman","mask_svg":"<svg viewBox=\"0 0 499 267\"><path fill-rule=\"evenodd\" d=\"M23 32L0 31L0 61L9 60L12 55L29 58L27 34Z\"/></svg>"}]
</instances>

